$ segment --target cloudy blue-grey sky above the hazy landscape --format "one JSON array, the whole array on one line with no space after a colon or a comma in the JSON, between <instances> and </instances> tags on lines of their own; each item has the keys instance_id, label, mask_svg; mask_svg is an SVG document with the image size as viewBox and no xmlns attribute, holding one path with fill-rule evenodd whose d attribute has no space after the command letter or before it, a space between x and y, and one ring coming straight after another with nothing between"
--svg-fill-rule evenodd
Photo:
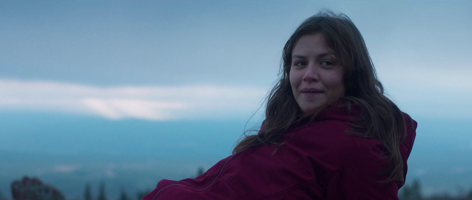
<instances>
[{"instance_id":1,"label":"cloudy blue-grey sky above the hazy landscape","mask_svg":"<svg viewBox=\"0 0 472 200\"><path fill-rule=\"evenodd\" d=\"M257 121L285 42L321 9L353 20L418 145L472 150L472 1L0 1L0 115Z\"/></svg>"}]
</instances>

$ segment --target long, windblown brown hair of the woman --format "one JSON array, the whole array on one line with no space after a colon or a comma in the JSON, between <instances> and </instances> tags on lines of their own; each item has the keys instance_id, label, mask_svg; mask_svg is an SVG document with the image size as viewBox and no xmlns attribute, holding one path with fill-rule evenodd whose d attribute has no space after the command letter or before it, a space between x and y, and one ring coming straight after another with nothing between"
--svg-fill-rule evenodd
<instances>
[{"instance_id":1,"label":"long, windblown brown hair of the woman","mask_svg":"<svg viewBox=\"0 0 472 200\"><path fill-rule=\"evenodd\" d=\"M305 21L295 30L285 44L280 81L267 97L265 120L256 135L245 136L233 150L233 154L257 144L278 146L289 126L304 114L295 101L290 86L289 74L292 50L303 35L321 32L345 72L343 83L346 94L344 104L357 104L360 124L350 124L347 134L374 138L384 144L388 178L382 182L404 183L403 160L399 145L406 136L405 119L398 107L384 95L382 84L377 79L374 65L361 33L349 17L330 11L320 12ZM319 112L319 111L318 111ZM308 113L313 114L313 113ZM314 114L314 116L316 113Z\"/></svg>"}]
</instances>

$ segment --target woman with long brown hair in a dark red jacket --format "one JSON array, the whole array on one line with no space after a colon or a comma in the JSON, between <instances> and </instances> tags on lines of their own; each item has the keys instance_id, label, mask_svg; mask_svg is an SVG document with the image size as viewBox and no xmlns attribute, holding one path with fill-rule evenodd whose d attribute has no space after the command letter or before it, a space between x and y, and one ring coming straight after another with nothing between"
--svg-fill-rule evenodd
<instances>
[{"instance_id":1,"label":"woman with long brown hair in a dark red jacket","mask_svg":"<svg viewBox=\"0 0 472 200\"><path fill-rule=\"evenodd\" d=\"M284 47L281 74L258 134L143 200L398 200L416 122L383 94L352 21L306 19Z\"/></svg>"}]
</instances>

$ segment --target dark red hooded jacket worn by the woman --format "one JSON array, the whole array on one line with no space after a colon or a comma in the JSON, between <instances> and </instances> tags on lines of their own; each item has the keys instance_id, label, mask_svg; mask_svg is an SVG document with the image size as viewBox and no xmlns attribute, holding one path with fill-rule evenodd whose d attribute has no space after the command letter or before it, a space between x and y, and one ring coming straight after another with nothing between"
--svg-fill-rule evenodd
<instances>
[{"instance_id":1,"label":"dark red hooded jacket worn by the woman","mask_svg":"<svg viewBox=\"0 0 472 200\"><path fill-rule=\"evenodd\" d=\"M356 116L355 106L351 113L325 110L311 123L294 123L280 140L289 142L273 155L273 146L247 148L195 179L161 180L143 200L398 200L401 185L378 182L386 178L379 176L386 164L383 144L346 134L346 122ZM404 117L406 176L417 124Z\"/></svg>"}]
</instances>

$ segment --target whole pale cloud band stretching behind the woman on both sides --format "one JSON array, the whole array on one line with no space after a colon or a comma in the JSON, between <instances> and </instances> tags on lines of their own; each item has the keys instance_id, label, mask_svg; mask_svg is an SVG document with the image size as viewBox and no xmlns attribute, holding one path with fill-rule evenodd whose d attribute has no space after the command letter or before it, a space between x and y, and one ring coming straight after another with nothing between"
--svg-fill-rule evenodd
<instances>
[{"instance_id":1,"label":"whole pale cloud band stretching behind the woman on both sides","mask_svg":"<svg viewBox=\"0 0 472 200\"><path fill-rule=\"evenodd\" d=\"M394 102L413 117L472 118L472 71L418 66L378 68ZM111 120L248 119L269 88L183 85L99 87L0 79L0 109L65 112Z\"/></svg>"}]
</instances>

